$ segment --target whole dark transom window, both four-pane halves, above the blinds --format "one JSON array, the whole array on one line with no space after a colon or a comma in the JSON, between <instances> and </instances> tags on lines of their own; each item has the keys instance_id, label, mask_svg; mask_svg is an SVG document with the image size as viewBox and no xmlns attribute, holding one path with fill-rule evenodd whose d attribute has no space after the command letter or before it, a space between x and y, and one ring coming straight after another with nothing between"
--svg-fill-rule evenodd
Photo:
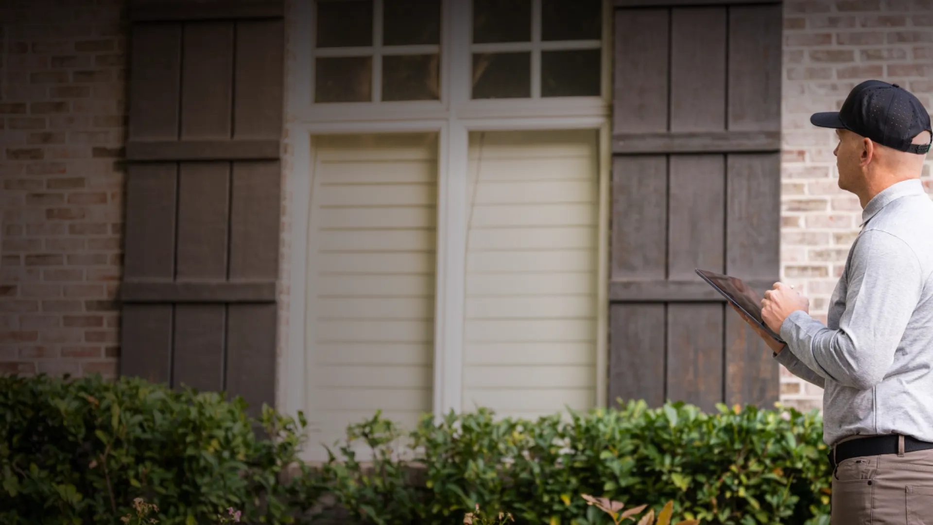
<instances>
[{"instance_id":1,"label":"whole dark transom window, both four-pane halves, above the blinds","mask_svg":"<svg viewBox=\"0 0 933 525\"><path fill-rule=\"evenodd\" d=\"M313 100L439 101L441 0L317 0ZM472 99L599 96L601 0L473 0ZM453 20L452 23L464 23Z\"/></svg>"}]
</instances>

